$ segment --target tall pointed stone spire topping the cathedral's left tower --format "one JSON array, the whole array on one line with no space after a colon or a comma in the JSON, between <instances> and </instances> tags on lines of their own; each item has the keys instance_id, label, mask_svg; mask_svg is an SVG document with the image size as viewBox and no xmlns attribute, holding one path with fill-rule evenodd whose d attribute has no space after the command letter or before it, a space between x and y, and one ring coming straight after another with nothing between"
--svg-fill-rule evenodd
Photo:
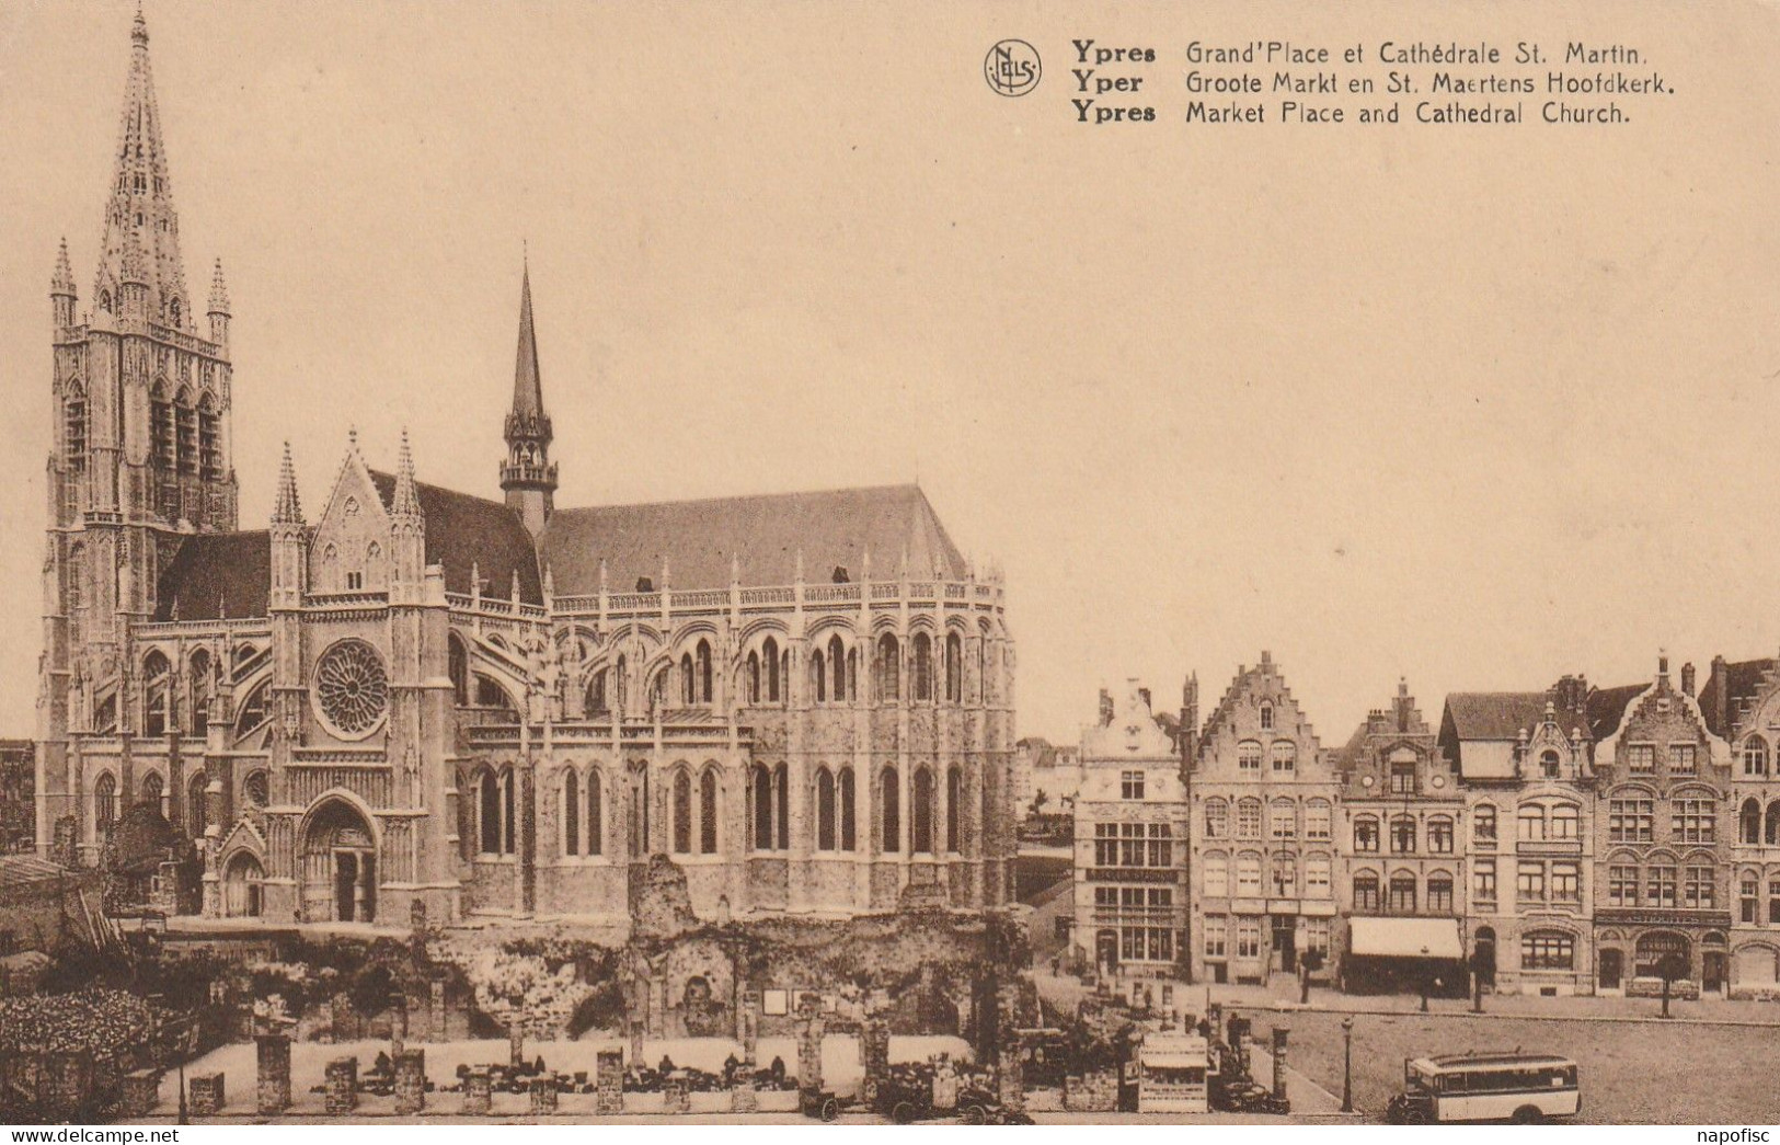
<instances>
[{"instance_id":1,"label":"tall pointed stone spire topping the cathedral's left tower","mask_svg":"<svg viewBox=\"0 0 1780 1145\"><path fill-rule=\"evenodd\" d=\"M190 328L192 306L180 258L180 217L173 210L173 180L160 141L155 75L148 62L148 23L141 11L130 39L130 78L117 126L116 169L105 207L105 240L94 296L101 310L110 301L112 313L119 313L125 303L117 297L117 287L146 287L144 312L126 317Z\"/></svg>"}]
</instances>

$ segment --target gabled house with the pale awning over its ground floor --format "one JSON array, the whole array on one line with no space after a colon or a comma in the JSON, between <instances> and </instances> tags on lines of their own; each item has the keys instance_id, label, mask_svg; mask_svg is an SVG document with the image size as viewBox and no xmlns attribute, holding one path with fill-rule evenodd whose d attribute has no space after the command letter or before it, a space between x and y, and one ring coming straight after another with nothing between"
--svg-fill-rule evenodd
<instances>
[{"instance_id":1,"label":"gabled house with the pale awning over its ground floor","mask_svg":"<svg viewBox=\"0 0 1780 1145\"><path fill-rule=\"evenodd\" d=\"M1335 771L1342 988L1417 990L1438 976L1461 990L1465 792L1406 682L1397 682L1388 709L1374 709L1355 728Z\"/></svg>"}]
</instances>

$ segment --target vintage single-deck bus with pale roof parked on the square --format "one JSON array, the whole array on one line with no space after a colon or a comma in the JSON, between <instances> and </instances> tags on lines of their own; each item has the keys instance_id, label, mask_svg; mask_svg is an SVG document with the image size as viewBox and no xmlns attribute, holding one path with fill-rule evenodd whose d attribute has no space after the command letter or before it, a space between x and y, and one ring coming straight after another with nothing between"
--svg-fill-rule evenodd
<instances>
[{"instance_id":1,"label":"vintage single-deck bus with pale roof parked on the square","mask_svg":"<svg viewBox=\"0 0 1780 1145\"><path fill-rule=\"evenodd\" d=\"M1554 1054L1477 1052L1403 1061L1396 1124L1541 1122L1582 1108L1575 1061Z\"/></svg>"}]
</instances>

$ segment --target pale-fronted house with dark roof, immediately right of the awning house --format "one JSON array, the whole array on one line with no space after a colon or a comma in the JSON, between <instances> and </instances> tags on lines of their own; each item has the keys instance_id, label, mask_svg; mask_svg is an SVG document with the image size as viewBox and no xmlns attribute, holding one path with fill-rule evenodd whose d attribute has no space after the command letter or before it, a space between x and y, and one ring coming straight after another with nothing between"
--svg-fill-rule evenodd
<instances>
[{"instance_id":1,"label":"pale-fronted house with dark roof, immediately right of the awning house","mask_svg":"<svg viewBox=\"0 0 1780 1145\"><path fill-rule=\"evenodd\" d=\"M1465 792L1470 953L1499 994L1593 988L1593 728L1625 689L1454 693L1438 746Z\"/></svg>"}]
</instances>

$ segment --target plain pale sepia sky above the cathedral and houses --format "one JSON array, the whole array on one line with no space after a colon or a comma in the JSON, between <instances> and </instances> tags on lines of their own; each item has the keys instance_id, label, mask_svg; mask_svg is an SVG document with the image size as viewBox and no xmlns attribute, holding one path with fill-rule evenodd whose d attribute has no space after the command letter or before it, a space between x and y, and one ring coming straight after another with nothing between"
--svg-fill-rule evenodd
<instances>
[{"instance_id":1,"label":"plain pale sepia sky above the cathedral and houses","mask_svg":"<svg viewBox=\"0 0 1780 1145\"><path fill-rule=\"evenodd\" d=\"M1780 650L1780 9L151 0L187 281L235 306L242 527L360 429L498 495L530 246L559 504L917 477L1007 573L1022 734L1326 744L1406 675ZM34 730L50 303L91 281L134 4L0 4L0 735ZM1632 20L1638 27L1630 27ZM1027 98L983 82L1038 46ZM1614 128L1084 128L1070 37L1620 37ZM1171 89L1173 91L1173 89ZM1169 94L1178 110L1182 98Z\"/></svg>"}]
</instances>

